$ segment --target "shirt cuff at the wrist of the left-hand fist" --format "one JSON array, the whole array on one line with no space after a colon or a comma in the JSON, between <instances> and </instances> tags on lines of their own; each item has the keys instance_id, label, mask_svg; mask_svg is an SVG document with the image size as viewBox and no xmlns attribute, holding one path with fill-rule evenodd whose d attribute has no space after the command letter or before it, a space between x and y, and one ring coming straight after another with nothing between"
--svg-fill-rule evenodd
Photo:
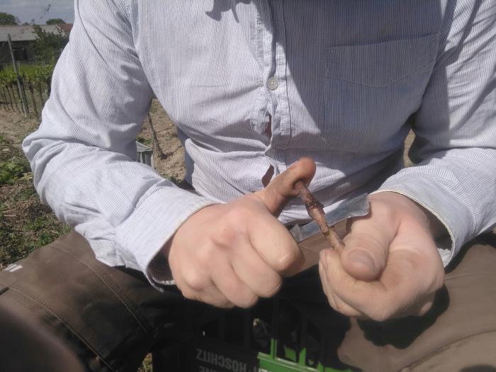
<instances>
[{"instance_id":1,"label":"shirt cuff at the wrist of the left-hand fist","mask_svg":"<svg viewBox=\"0 0 496 372\"><path fill-rule=\"evenodd\" d=\"M142 271L152 286L160 289L159 285L163 283L154 281L149 267L152 259L184 221L201 208L213 204L210 199L181 188L164 187L155 191L117 227L115 245L118 255L125 266Z\"/></svg>"}]
</instances>

